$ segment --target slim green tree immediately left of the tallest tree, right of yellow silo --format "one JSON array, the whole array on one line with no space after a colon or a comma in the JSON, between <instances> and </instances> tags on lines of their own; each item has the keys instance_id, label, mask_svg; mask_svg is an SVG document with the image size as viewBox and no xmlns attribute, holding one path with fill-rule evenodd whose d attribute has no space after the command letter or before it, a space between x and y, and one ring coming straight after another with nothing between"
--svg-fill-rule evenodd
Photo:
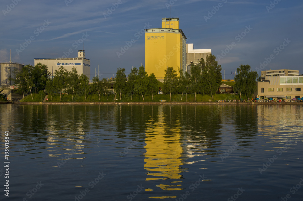
<instances>
[{"instance_id":1,"label":"slim green tree immediately left of the tallest tree, right of yellow silo","mask_svg":"<svg viewBox=\"0 0 303 201\"><path fill-rule=\"evenodd\" d=\"M195 94L196 101L196 95L201 88L201 66L191 64L190 74L186 72L185 77L188 79L191 92Z\"/></svg>"}]
</instances>

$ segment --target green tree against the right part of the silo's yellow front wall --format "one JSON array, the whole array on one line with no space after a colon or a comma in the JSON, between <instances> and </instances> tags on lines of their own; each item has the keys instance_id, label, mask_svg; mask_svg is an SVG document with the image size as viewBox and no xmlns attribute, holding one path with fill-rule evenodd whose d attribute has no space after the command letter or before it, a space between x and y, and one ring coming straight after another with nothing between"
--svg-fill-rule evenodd
<instances>
[{"instance_id":1,"label":"green tree against the right part of the silo's yellow front wall","mask_svg":"<svg viewBox=\"0 0 303 201\"><path fill-rule=\"evenodd\" d=\"M169 99L171 101L171 93L175 92L176 86L178 84L178 74L174 70L174 67L168 67L164 70L164 92L169 93Z\"/></svg>"}]
</instances>

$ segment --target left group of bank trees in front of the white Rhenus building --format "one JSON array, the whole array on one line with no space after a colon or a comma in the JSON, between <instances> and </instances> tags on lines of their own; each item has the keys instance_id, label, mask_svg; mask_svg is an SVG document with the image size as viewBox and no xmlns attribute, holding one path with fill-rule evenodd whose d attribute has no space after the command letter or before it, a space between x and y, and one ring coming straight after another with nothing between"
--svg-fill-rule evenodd
<instances>
[{"instance_id":1,"label":"left group of bank trees in front of the white Rhenus building","mask_svg":"<svg viewBox=\"0 0 303 201\"><path fill-rule=\"evenodd\" d=\"M76 94L85 96L85 100L89 93L93 92L99 95L105 94L108 99L110 94L111 83L103 78L93 78L93 83L89 84L88 77L84 74L78 75L75 67L71 71L66 70L63 66L59 70L55 70L54 76L51 78L51 73L47 70L47 66L38 63L35 66L26 65L20 71L15 71L16 78L13 79L16 85L19 86L18 92L24 94L31 94L35 91L39 93L48 93L53 99L53 95L60 94L62 100L62 93L72 94L72 100ZM32 96L33 99L33 96Z\"/></svg>"}]
</instances>

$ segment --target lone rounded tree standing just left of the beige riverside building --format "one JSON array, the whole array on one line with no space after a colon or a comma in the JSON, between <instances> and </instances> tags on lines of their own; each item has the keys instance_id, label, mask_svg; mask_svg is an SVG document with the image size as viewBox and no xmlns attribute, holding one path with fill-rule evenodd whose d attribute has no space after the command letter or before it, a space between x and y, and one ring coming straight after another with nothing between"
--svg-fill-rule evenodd
<instances>
[{"instance_id":1,"label":"lone rounded tree standing just left of the beige riverside building","mask_svg":"<svg viewBox=\"0 0 303 201\"><path fill-rule=\"evenodd\" d=\"M237 68L237 75L235 75L235 86L234 90L240 94L246 94L247 99L252 93L257 89L256 80L258 78L258 73L256 71L252 71L251 67L246 65L240 65Z\"/></svg>"}]
</instances>

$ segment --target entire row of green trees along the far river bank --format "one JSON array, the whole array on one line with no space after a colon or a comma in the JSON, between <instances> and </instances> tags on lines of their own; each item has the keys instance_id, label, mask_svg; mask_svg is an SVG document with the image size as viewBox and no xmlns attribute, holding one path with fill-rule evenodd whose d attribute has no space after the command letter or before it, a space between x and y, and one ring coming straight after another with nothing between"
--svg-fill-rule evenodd
<instances>
[{"instance_id":1,"label":"entire row of green trees along the far river bank","mask_svg":"<svg viewBox=\"0 0 303 201\"><path fill-rule=\"evenodd\" d=\"M178 73L173 67L165 69L165 77L162 92L164 94L181 94L181 100L183 94L191 93L195 96L198 93L211 95L218 91L218 87L221 85L221 65L215 60L215 55L206 56L206 60L201 58L198 64L191 64L189 72L184 72L178 66ZM234 92L240 94L251 95L255 92L255 81L258 77L258 73L251 70L249 65L240 65L237 69L237 75L235 75ZM31 94L35 91L39 93L48 93L53 99L53 95L60 94L60 100L62 99L62 93L72 94L72 100L74 100L75 94L85 96L85 100L89 93L95 93L100 96L105 95L108 99L108 95L112 93L111 81L105 78L99 79L94 77L92 83L89 83L88 77L84 74L78 75L77 69L72 67L71 71L66 70L63 66L60 66L59 70L55 70L54 76L50 78L51 73L47 70L47 66L38 63L36 66L26 65L22 67L21 71L16 71L16 78L13 79L15 84L19 86L19 92L24 94ZM127 96L129 99L133 99L133 96L144 97L151 96L152 100L154 96L158 94L159 86L162 85L155 77L154 73L150 75L145 71L144 66L139 68L132 68L131 73L127 76L125 74L125 68L118 68L113 83L114 92L117 94L120 100L122 96ZM32 96L33 99L33 96Z\"/></svg>"}]
</instances>

